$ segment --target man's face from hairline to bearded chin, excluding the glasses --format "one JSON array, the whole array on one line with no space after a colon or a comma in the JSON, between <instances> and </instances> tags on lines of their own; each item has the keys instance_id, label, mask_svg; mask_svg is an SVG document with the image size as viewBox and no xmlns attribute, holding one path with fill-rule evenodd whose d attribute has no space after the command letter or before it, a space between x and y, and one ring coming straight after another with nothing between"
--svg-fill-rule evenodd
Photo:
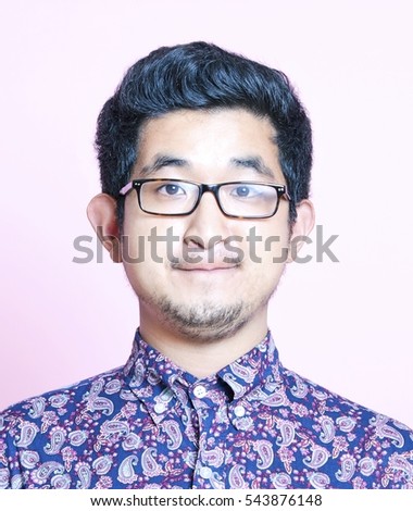
<instances>
[{"instance_id":1,"label":"man's face from hairline to bearded chin, excluding the glasses","mask_svg":"<svg viewBox=\"0 0 413 511\"><path fill-rule=\"evenodd\" d=\"M246 110L167 113L143 126L132 178L285 185L274 137L268 120ZM158 216L141 211L132 190L123 234L124 265L141 320L184 337L220 339L266 314L285 267L288 201L280 199L270 219L235 219L205 192L191 214ZM138 257L141 262L133 262Z\"/></svg>"}]
</instances>

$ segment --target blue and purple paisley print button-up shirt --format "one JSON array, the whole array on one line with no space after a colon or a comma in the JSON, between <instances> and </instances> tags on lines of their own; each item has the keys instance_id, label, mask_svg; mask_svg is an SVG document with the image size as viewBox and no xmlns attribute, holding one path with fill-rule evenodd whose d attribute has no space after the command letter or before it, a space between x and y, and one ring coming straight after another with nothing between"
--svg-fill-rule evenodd
<instances>
[{"instance_id":1,"label":"blue and purple paisley print button-up shirt","mask_svg":"<svg viewBox=\"0 0 413 511\"><path fill-rule=\"evenodd\" d=\"M125 366L0 414L1 488L413 488L413 432L283 367L204 379L137 332Z\"/></svg>"}]
</instances>

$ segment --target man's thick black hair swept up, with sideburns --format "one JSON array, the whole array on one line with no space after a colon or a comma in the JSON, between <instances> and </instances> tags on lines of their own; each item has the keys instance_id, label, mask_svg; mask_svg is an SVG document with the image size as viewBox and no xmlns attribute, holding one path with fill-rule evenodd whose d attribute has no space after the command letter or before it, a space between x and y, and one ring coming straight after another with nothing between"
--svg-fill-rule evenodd
<instances>
[{"instance_id":1,"label":"man's thick black hair swept up, with sideburns","mask_svg":"<svg viewBox=\"0 0 413 511\"><path fill-rule=\"evenodd\" d=\"M279 163L296 205L310 192L311 124L287 76L215 45L162 47L136 62L98 117L96 148L102 191L117 201L122 226L124 198L137 159L139 128L146 121L180 109L243 108L267 117L276 130Z\"/></svg>"}]
</instances>

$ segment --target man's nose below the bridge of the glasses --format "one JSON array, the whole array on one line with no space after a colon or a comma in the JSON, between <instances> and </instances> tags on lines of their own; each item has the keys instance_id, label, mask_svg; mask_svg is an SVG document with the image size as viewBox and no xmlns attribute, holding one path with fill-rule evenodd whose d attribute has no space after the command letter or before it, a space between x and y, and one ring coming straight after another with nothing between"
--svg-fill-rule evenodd
<instances>
[{"instance_id":1,"label":"man's nose below the bridge of the glasses","mask_svg":"<svg viewBox=\"0 0 413 511\"><path fill-rule=\"evenodd\" d=\"M214 195L204 192L198 208L188 216L185 242L206 250L229 235L230 219L221 211Z\"/></svg>"}]
</instances>

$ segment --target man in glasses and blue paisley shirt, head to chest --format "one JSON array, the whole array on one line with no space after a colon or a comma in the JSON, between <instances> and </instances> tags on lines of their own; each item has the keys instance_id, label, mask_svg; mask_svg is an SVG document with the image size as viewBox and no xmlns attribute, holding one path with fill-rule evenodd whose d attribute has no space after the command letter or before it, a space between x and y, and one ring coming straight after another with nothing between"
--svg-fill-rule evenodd
<instances>
[{"instance_id":1,"label":"man in glasses and blue paisley shirt, head to chest","mask_svg":"<svg viewBox=\"0 0 413 511\"><path fill-rule=\"evenodd\" d=\"M413 488L413 432L283 367L267 304L314 224L286 76L195 42L102 109L88 216L139 298L126 365L0 415L0 486Z\"/></svg>"}]
</instances>

